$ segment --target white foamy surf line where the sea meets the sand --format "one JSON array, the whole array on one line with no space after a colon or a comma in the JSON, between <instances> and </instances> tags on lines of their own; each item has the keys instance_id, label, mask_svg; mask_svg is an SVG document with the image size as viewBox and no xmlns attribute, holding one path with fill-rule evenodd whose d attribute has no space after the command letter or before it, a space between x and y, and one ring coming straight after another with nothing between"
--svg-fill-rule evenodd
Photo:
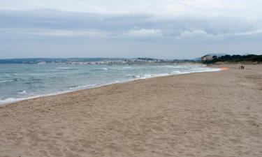
<instances>
[{"instance_id":1,"label":"white foamy surf line where the sea meets the sand","mask_svg":"<svg viewBox=\"0 0 262 157\"><path fill-rule=\"evenodd\" d=\"M208 68L213 68L214 69L215 67L208 67ZM223 69L220 68L220 70L223 70ZM220 70L191 72L191 73L212 73L212 72L218 72ZM10 100L10 102L7 102L7 103L0 103L0 107L3 106L3 105L11 105L13 103L17 103L17 102L20 102L20 101L23 101L23 100L30 100L30 99L34 99L34 98L42 98L42 97L47 97L47 96L57 96L57 95L60 95L60 94L70 94L71 92L75 92L75 91L96 89L96 88L99 88L99 87L105 87L105 86L109 86L109 85L112 85L112 84L122 84L122 83L126 83L126 82L133 82L133 81L136 81L136 80L151 79L151 78L155 78L155 77L168 77L168 76L173 76L173 75L187 75L187 74L191 74L191 73L168 74L168 75L159 75L159 76L152 76L152 77L145 77L145 78L134 78L132 80L111 82L111 83L101 84L101 85L94 86L94 87L84 87L84 88L75 89L75 90L57 91L57 92L51 93L51 94L42 94L42 95L36 95L36 96L29 96L29 97L26 97L26 98L7 98L7 99L4 99L4 100L8 100L8 99L17 99L17 100Z\"/></svg>"}]
</instances>

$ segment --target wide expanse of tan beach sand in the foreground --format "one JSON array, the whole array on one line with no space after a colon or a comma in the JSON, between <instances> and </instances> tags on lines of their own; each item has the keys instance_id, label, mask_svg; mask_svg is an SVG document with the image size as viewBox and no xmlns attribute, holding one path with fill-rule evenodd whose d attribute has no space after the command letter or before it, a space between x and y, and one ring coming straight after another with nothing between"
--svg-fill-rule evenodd
<instances>
[{"instance_id":1,"label":"wide expanse of tan beach sand in the foreground","mask_svg":"<svg viewBox=\"0 0 262 157\"><path fill-rule=\"evenodd\" d=\"M262 65L0 108L0 156L262 156Z\"/></svg>"}]
</instances>

